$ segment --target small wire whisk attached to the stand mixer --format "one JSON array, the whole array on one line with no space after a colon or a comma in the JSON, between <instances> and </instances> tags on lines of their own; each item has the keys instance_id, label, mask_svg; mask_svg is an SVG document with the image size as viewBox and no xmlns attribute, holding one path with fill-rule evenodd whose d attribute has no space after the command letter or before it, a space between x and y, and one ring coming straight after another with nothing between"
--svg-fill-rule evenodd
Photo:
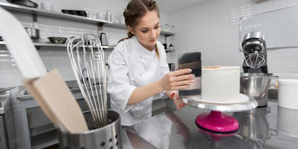
<instances>
[{"instance_id":1,"label":"small wire whisk attached to the stand mixer","mask_svg":"<svg viewBox=\"0 0 298 149\"><path fill-rule=\"evenodd\" d=\"M250 53L244 59L245 59L246 65L253 69L260 68L262 65L265 64L265 56L259 54L257 50L254 51L253 53Z\"/></svg>"}]
</instances>

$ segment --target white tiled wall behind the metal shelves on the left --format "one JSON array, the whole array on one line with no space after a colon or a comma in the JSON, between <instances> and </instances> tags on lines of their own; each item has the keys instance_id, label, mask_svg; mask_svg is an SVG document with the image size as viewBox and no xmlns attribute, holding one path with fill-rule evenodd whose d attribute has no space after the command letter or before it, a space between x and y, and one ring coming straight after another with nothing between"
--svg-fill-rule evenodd
<instances>
[{"instance_id":1,"label":"white tiled wall behind the metal shelves on the left","mask_svg":"<svg viewBox=\"0 0 298 149\"><path fill-rule=\"evenodd\" d=\"M33 0L41 8L41 2L45 0ZM61 9L85 10L92 13L103 12L107 10L112 12L112 21L122 14L127 5L124 0L46 0L53 4L53 10L61 12ZM24 27L34 27L31 14L13 12ZM40 41L49 42L47 37L66 37L68 40L72 36L81 35L81 33L98 34L97 24L78 22L66 19L38 16L38 29L40 29ZM160 22L168 23L168 16L160 13ZM127 37L127 29L104 26L102 32L106 33L109 45L116 45L118 41ZM164 43L164 36L159 38ZM16 41L17 42L17 41ZM106 57L112 52L106 49ZM74 74L69 61L66 47L40 47L38 53L43 60L46 68L51 71L57 68L65 80L74 80ZM30 68L28 68L30 69ZM13 57L7 51L5 45L0 45L0 87L22 85L22 76L14 63Z\"/></svg>"}]
</instances>

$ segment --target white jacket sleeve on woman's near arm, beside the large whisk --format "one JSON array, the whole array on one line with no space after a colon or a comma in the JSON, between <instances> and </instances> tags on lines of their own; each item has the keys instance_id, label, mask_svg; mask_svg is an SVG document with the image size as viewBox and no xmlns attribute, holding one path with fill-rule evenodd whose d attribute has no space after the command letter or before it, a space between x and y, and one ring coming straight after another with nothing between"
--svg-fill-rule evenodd
<instances>
[{"instance_id":1,"label":"white jacket sleeve on woman's near arm, beside the large whisk","mask_svg":"<svg viewBox=\"0 0 298 149\"><path fill-rule=\"evenodd\" d=\"M107 91L110 93L111 100L119 107L119 111L127 112L132 108L132 105L127 105L128 99L137 87L130 83L129 69L123 53L115 49L108 58L108 64L110 69Z\"/></svg>"}]
</instances>

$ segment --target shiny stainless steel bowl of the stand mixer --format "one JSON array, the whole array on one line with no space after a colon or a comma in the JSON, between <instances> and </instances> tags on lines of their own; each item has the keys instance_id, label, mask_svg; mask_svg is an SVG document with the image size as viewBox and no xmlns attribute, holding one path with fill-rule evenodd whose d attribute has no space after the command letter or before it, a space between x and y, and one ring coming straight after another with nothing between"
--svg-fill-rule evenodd
<instances>
[{"instance_id":1,"label":"shiny stainless steel bowl of the stand mixer","mask_svg":"<svg viewBox=\"0 0 298 149\"><path fill-rule=\"evenodd\" d=\"M278 78L273 74L240 74L240 93L262 99L268 90L272 78Z\"/></svg>"}]
</instances>

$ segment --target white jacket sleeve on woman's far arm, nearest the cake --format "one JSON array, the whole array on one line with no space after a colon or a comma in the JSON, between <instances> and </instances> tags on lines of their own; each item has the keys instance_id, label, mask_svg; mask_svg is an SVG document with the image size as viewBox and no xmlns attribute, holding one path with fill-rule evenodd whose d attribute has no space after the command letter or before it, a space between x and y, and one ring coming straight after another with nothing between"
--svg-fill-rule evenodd
<instances>
[{"instance_id":1,"label":"white jacket sleeve on woman's far arm, nearest the cake","mask_svg":"<svg viewBox=\"0 0 298 149\"><path fill-rule=\"evenodd\" d=\"M166 62L166 54L164 52L163 46L158 47L158 50L160 51L160 74L159 79L161 79L165 74L170 72L169 65ZM164 95L165 91L162 91L159 93L160 97L162 99L167 98L167 96Z\"/></svg>"}]
</instances>

